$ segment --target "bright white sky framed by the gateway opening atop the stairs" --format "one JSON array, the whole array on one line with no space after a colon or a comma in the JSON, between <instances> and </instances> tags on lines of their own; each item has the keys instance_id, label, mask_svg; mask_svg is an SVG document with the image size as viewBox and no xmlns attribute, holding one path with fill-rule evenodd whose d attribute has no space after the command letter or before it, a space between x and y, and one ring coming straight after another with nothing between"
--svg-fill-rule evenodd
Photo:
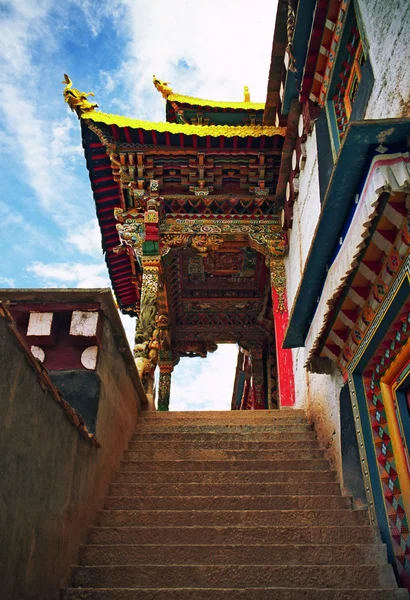
<instances>
[{"instance_id":1,"label":"bright white sky framed by the gateway opening atop the stairs","mask_svg":"<svg viewBox=\"0 0 410 600\"><path fill-rule=\"evenodd\" d=\"M170 410L230 410L238 349L219 344L207 358L182 358L171 379Z\"/></svg>"}]
</instances>

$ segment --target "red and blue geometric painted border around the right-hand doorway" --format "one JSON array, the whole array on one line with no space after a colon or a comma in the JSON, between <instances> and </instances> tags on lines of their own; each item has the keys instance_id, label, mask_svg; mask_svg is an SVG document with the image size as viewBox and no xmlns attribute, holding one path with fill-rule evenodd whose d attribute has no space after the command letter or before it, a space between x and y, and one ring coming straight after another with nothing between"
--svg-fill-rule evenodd
<instances>
[{"instance_id":1,"label":"red and blue geometric painted border around the right-hand doorway","mask_svg":"<svg viewBox=\"0 0 410 600\"><path fill-rule=\"evenodd\" d=\"M380 380L410 337L410 304L390 328L363 377L390 533L403 584L410 581L409 517L405 514Z\"/></svg>"}]
</instances>

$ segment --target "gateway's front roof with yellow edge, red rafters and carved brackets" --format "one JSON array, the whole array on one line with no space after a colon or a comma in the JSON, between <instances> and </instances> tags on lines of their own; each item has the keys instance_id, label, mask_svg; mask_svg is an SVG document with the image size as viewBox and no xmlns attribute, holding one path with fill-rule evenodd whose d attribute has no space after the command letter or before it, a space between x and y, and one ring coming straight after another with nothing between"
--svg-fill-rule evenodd
<instances>
[{"instance_id":1,"label":"gateway's front roof with yellow edge, red rafters and carved brackets","mask_svg":"<svg viewBox=\"0 0 410 600\"><path fill-rule=\"evenodd\" d=\"M171 218L276 218L274 192L285 128L151 123L88 105L84 111L74 108L81 119L105 259L124 312L139 313L141 267L131 248L120 245L114 209L135 210L135 198L148 192L150 180L158 180L164 212Z\"/></svg>"}]
</instances>

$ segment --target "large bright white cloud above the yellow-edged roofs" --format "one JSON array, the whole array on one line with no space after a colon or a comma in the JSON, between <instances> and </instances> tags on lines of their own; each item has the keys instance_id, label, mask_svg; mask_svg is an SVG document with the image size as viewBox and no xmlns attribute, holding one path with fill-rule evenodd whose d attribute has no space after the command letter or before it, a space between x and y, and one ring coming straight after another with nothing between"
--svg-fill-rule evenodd
<instances>
[{"instance_id":1,"label":"large bright white cloud above the yellow-edged roofs","mask_svg":"<svg viewBox=\"0 0 410 600\"><path fill-rule=\"evenodd\" d=\"M239 101L248 85L252 100L264 102L276 5L258 0L250 9L248 0L207 0L193 10L184 0L170 11L166 0L117 0L112 16L128 43L122 68L111 76L128 93L123 111L164 120L154 73L181 94ZM204 11L212 15L205 26Z\"/></svg>"}]
</instances>

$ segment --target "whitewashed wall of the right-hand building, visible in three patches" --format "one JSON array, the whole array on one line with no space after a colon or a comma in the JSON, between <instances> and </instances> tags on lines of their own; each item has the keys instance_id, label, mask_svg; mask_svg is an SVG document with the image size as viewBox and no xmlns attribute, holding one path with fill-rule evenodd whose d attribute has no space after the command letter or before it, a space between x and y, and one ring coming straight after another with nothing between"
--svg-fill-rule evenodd
<instances>
[{"instance_id":1,"label":"whitewashed wall of the right-hand building, visible in three patches","mask_svg":"<svg viewBox=\"0 0 410 600\"><path fill-rule=\"evenodd\" d=\"M410 116L410 2L408 0L357 0L364 23L374 86L366 119ZM300 173L299 197L294 205L289 255L286 259L289 313L302 278L304 266L320 215L316 132L306 142L307 159ZM296 407L306 410L317 435L342 481L340 444L340 390L343 378L335 367L331 375L308 373L305 348L292 350Z\"/></svg>"}]
</instances>

